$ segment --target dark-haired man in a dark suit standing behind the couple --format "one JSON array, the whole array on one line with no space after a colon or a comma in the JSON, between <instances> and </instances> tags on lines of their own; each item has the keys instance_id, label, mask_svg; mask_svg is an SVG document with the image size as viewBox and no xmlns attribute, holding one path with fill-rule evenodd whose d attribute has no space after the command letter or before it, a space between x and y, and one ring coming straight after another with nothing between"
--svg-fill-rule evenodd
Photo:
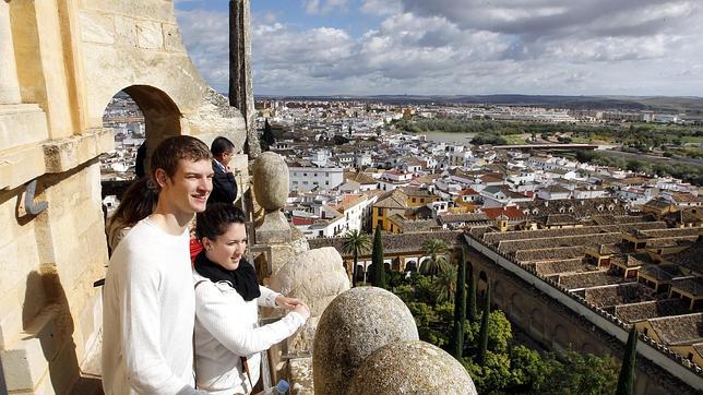
<instances>
[{"instance_id":1,"label":"dark-haired man in a dark suit standing behind the couple","mask_svg":"<svg viewBox=\"0 0 703 395\"><path fill-rule=\"evenodd\" d=\"M213 192L207 203L234 203L237 199L237 181L229 168L229 160L235 152L235 144L226 137L215 139L210 146L213 154Z\"/></svg>"}]
</instances>

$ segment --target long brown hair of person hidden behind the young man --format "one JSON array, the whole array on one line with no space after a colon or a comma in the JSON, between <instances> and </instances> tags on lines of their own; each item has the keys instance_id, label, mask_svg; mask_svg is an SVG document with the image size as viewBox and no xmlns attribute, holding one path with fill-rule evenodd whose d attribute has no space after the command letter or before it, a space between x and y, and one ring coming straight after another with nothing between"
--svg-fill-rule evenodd
<instances>
[{"instance_id":1,"label":"long brown hair of person hidden behind the young man","mask_svg":"<svg viewBox=\"0 0 703 395\"><path fill-rule=\"evenodd\" d=\"M150 188L150 178L142 177L127 188L120 205L112 215L126 226L133 226L154 212L158 202L158 189Z\"/></svg>"}]
</instances>

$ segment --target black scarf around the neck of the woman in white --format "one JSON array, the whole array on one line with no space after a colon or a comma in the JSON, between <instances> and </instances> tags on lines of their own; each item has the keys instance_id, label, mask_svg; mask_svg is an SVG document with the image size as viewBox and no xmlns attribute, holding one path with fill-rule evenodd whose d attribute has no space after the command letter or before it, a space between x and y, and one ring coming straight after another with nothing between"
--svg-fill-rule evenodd
<instances>
[{"instance_id":1,"label":"black scarf around the neck of the woman in white","mask_svg":"<svg viewBox=\"0 0 703 395\"><path fill-rule=\"evenodd\" d=\"M237 290L245 301L257 299L261 296L259 290L259 278L254 266L241 259L237 270L228 271L219 264L211 261L205 256L205 251L201 251L195 256L195 272L201 276L210 278L213 283L227 282Z\"/></svg>"}]
</instances>

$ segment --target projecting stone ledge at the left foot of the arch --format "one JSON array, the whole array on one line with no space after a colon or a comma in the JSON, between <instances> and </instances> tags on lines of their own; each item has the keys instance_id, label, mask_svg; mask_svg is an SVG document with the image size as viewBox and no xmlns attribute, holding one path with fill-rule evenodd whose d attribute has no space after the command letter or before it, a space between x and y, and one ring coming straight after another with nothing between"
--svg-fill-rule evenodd
<instances>
[{"instance_id":1,"label":"projecting stone ledge at the left foot of the arch","mask_svg":"<svg viewBox=\"0 0 703 395\"><path fill-rule=\"evenodd\" d=\"M111 129L90 129L68 139L43 144L47 172L64 172L115 147Z\"/></svg>"}]
</instances>

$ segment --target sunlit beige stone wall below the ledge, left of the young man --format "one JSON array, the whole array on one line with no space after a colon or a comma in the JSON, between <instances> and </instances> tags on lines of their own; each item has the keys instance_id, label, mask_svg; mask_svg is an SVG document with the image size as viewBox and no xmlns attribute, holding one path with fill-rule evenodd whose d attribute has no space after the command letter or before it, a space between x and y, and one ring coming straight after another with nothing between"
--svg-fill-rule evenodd
<instances>
[{"instance_id":1,"label":"sunlit beige stone wall below the ledge, left of the young man","mask_svg":"<svg viewBox=\"0 0 703 395\"><path fill-rule=\"evenodd\" d=\"M67 393L98 344L107 249L99 164L46 175L39 215L22 214L24 188L0 192L0 359L8 391ZM86 185L93 188L86 189Z\"/></svg>"}]
</instances>

